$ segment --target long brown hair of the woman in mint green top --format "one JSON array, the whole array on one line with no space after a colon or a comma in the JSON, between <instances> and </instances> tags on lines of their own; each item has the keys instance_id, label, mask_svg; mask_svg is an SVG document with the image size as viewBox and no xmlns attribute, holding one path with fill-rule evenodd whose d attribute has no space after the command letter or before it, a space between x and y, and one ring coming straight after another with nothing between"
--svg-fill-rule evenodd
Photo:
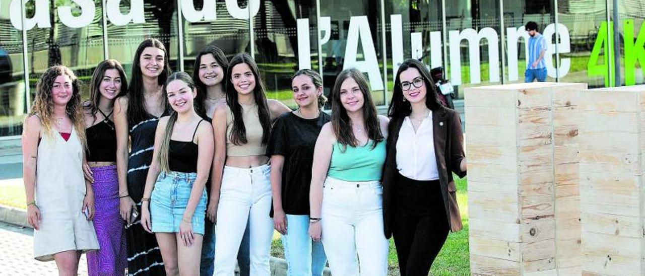
<instances>
[{"instance_id":1,"label":"long brown hair of the woman in mint green top","mask_svg":"<svg viewBox=\"0 0 645 276\"><path fill-rule=\"evenodd\" d=\"M363 96L362 115L367 129L367 136L372 140L372 149L376 144L383 141L383 133L381 133L381 124L376 112L376 106L372 101L370 94L370 86L365 79L365 76L354 68L342 70L341 74L336 78L336 83L333 85L332 90L332 127L336 139L342 144L343 150L348 146L358 146L358 141L352 132L352 122L347 115L347 110L341 103L341 85L346 79L352 78L359 84L359 89Z\"/></svg>"}]
</instances>

